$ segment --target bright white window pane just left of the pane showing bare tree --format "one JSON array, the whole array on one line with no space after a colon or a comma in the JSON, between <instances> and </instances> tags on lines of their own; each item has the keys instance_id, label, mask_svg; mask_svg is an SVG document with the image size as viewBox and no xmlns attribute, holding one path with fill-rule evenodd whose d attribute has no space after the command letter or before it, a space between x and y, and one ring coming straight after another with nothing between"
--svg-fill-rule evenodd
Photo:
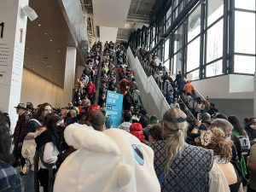
<instances>
[{"instance_id":1,"label":"bright white window pane just left of the pane showing bare tree","mask_svg":"<svg viewBox=\"0 0 256 192\"><path fill-rule=\"evenodd\" d=\"M199 67L200 60L200 38L195 38L187 49L187 72Z\"/></svg>"}]
</instances>

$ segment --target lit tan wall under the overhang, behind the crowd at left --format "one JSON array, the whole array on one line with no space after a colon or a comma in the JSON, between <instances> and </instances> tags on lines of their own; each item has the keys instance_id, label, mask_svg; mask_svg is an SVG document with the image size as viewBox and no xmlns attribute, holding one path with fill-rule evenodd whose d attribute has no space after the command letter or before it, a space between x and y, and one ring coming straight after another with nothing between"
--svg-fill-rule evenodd
<instances>
[{"instance_id":1,"label":"lit tan wall under the overhang, behind the crowd at left","mask_svg":"<svg viewBox=\"0 0 256 192\"><path fill-rule=\"evenodd\" d=\"M49 102L53 107L63 107L64 90L41 78L35 73L23 68L20 102L32 102L34 108L43 102Z\"/></svg>"}]
</instances>

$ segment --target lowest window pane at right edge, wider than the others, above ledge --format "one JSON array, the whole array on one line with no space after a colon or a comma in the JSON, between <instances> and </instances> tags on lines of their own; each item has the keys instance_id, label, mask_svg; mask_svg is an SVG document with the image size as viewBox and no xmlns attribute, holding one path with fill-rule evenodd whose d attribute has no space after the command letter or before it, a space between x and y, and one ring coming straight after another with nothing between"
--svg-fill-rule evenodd
<instances>
[{"instance_id":1,"label":"lowest window pane at right edge, wider than the others, above ledge","mask_svg":"<svg viewBox=\"0 0 256 192\"><path fill-rule=\"evenodd\" d=\"M234 73L255 72L255 56L235 55L234 56Z\"/></svg>"}]
</instances>

